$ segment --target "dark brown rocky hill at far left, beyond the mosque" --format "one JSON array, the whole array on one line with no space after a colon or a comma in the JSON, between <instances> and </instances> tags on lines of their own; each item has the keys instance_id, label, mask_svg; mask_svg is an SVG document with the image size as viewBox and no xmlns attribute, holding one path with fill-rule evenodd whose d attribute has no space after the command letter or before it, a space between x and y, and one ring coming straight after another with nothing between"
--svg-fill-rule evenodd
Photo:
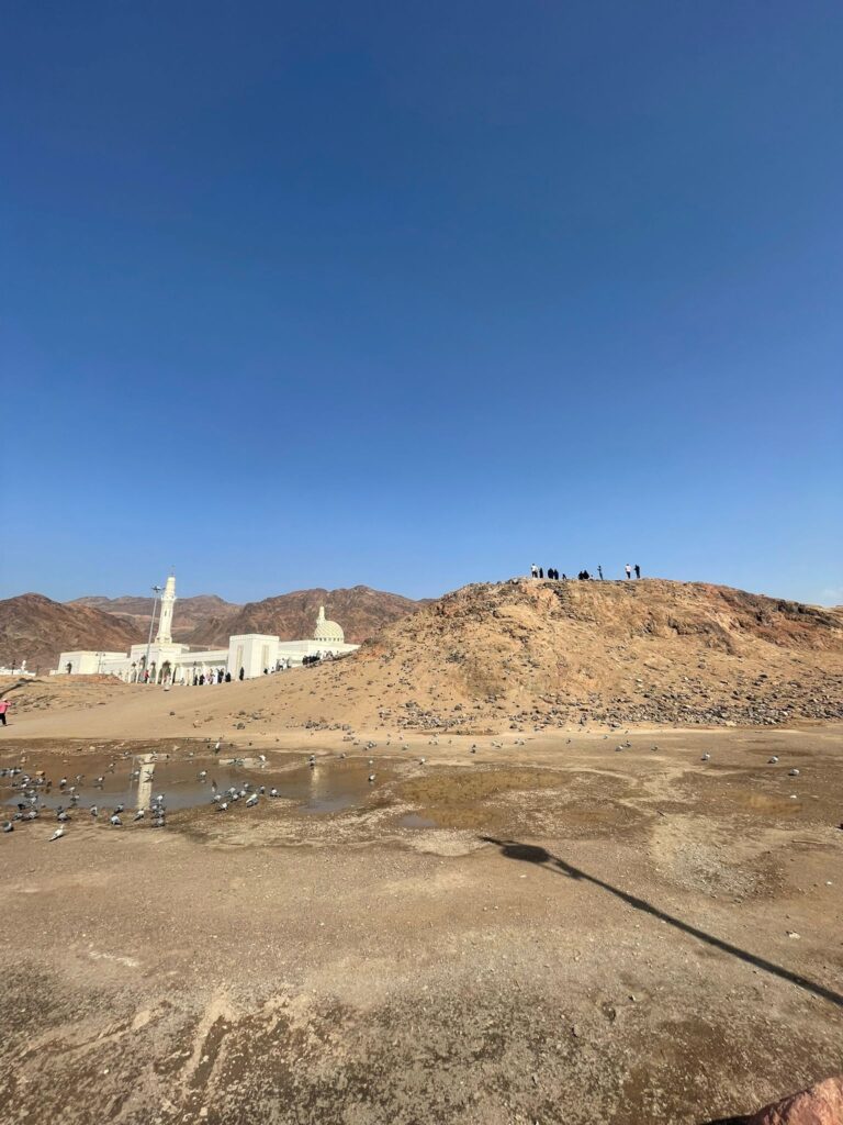
<instances>
[{"instance_id":1,"label":"dark brown rocky hill at far left, beyond the mosque","mask_svg":"<svg viewBox=\"0 0 843 1125\"><path fill-rule=\"evenodd\" d=\"M130 618L89 605L53 602L43 594L0 601L0 664L27 662L33 672L55 668L58 654L78 648L127 651L146 639Z\"/></svg>"}]
</instances>

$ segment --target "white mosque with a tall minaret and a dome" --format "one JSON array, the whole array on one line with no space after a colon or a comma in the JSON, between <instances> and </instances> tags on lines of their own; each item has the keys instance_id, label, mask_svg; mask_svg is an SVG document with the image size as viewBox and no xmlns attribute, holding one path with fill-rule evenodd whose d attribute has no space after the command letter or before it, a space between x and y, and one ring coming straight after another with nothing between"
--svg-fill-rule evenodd
<instances>
[{"instance_id":1,"label":"white mosque with a tall minaret and a dome","mask_svg":"<svg viewBox=\"0 0 843 1125\"><path fill-rule=\"evenodd\" d=\"M270 633L239 633L228 638L227 648L192 649L173 641L175 576L171 575L161 595L161 615L155 640L133 645L129 652L62 652L52 675L118 676L126 683L193 684L201 680L230 677L251 680L266 672L292 668L307 657L334 657L353 652L359 645L346 645L336 621L319 609L310 640L281 640ZM155 608L153 606L153 622ZM149 629L152 637L152 626Z\"/></svg>"}]
</instances>

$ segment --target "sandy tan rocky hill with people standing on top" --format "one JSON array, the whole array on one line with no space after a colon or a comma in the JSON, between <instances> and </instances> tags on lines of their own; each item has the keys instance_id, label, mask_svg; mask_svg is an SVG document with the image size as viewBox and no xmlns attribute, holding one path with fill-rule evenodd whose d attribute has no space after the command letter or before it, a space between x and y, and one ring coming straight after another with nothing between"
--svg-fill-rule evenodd
<instances>
[{"instance_id":1,"label":"sandy tan rocky hill with people standing on top","mask_svg":"<svg viewBox=\"0 0 843 1125\"><path fill-rule=\"evenodd\" d=\"M843 717L843 610L665 580L472 585L283 685L290 726Z\"/></svg>"}]
</instances>

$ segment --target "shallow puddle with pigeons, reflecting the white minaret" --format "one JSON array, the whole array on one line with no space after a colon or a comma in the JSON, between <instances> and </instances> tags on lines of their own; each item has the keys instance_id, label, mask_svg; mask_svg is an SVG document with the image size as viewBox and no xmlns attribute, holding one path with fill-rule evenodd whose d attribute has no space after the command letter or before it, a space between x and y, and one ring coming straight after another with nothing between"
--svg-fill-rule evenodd
<instances>
[{"instance_id":1,"label":"shallow puddle with pigeons, reflecting the white minaret","mask_svg":"<svg viewBox=\"0 0 843 1125\"><path fill-rule=\"evenodd\" d=\"M110 759L88 758L57 771L49 763L46 772L53 784L49 788L35 786L38 808L55 810L63 807L72 812L70 786L75 784L79 812L87 812L92 804L103 810L114 809L117 804L125 806L127 810L148 808L151 800L158 794L163 794L167 811L192 809L212 803L216 782L216 792L223 794L232 788L237 792L246 789L253 793L263 785L265 793L262 800L266 801L273 800L270 790L274 789L279 798L296 803L297 812L325 816L362 804L389 776L381 767L379 777L371 783L369 775L372 767L366 759L323 759L312 768L303 765L292 770L278 770L271 765L247 767L233 763L230 758L160 758L152 763L145 755L120 760L112 771L109 764ZM27 764L26 772L35 777L39 767L37 762L31 762ZM82 770L84 774L76 782L76 772L82 773ZM200 776L202 772L205 777ZM18 802L29 808L24 792L17 788L22 776L0 777L0 803L7 808L15 808ZM65 789L58 785L62 776L67 778ZM102 777L101 783L97 782L98 777Z\"/></svg>"}]
</instances>

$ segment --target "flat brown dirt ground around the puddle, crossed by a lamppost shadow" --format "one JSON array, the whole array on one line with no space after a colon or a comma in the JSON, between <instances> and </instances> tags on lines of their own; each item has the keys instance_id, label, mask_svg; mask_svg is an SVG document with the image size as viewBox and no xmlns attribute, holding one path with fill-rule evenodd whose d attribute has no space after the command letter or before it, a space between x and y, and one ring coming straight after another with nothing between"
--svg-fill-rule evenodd
<instances>
[{"instance_id":1,"label":"flat brown dirt ground around the puddle, crossed by a lamppost shadow","mask_svg":"<svg viewBox=\"0 0 843 1125\"><path fill-rule=\"evenodd\" d=\"M843 1071L843 727L237 736L2 731L84 775L64 838L0 838L3 1122L667 1125ZM87 811L112 763L310 754L377 780Z\"/></svg>"}]
</instances>

